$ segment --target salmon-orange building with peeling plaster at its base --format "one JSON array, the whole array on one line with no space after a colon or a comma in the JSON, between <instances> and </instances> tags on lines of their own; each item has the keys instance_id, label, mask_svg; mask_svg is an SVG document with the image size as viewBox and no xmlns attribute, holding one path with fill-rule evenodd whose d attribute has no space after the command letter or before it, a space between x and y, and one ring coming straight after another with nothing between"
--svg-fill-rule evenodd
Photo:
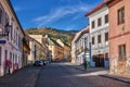
<instances>
[{"instance_id":1,"label":"salmon-orange building with peeling plaster at its base","mask_svg":"<svg viewBox=\"0 0 130 87\"><path fill-rule=\"evenodd\" d=\"M130 75L130 0L107 0L110 74Z\"/></svg>"}]
</instances>

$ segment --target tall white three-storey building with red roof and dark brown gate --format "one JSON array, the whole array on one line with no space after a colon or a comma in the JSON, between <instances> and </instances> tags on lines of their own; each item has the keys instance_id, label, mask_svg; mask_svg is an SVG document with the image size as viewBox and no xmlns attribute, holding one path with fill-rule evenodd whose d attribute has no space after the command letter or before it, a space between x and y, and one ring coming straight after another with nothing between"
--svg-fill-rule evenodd
<instances>
[{"instance_id":1,"label":"tall white three-storey building with red roof and dark brown gate","mask_svg":"<svg viewBox=\"0 0 130 87\"><path fill-rule=\"evenodd\" d=\"M108 67L108 8L102 2L88 12L90 24L91 66Z\"/></svg>"}]
</instances>

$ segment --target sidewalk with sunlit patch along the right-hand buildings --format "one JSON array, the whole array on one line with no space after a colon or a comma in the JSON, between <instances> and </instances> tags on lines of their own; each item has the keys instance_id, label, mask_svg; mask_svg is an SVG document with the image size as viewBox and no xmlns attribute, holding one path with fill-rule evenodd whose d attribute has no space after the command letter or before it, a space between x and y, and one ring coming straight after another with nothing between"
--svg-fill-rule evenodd
<instances>
[{"instance_id":1,"label":"sidewalk with sunlit patch along the right-hand buildings","mask_svg":"<svg viewBox=\"0 0 130 87\"><path fill-rule=\"evenodd\" d=\"M74 65L74 64L69 64L69 65L76 70L87 72L90 75L99 75L101 77L110 78L121 83L130 84L130 76L110 75L108 69L105 67L87 67L87 70L84 70L83 65Z\"/></svg>"}]
</instances>

